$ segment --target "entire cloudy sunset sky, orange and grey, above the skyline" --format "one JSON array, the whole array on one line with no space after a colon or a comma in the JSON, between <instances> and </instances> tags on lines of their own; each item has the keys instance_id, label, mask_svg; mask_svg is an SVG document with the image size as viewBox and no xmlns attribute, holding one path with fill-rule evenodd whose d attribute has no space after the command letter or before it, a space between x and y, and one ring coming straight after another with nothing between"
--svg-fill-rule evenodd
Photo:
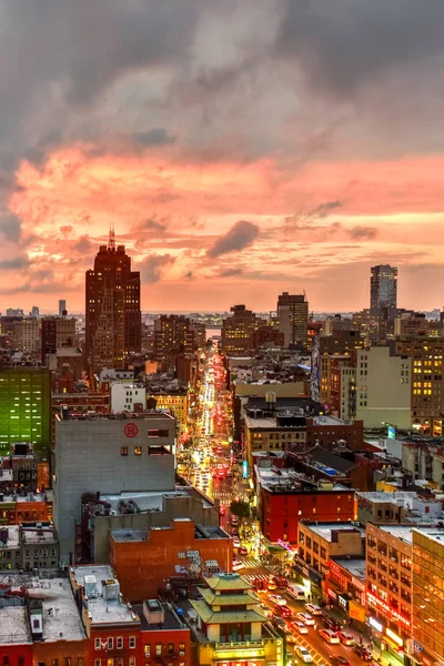
<instances>
[{"instance_id":1,"label":"entire cloudy sunset sky, orange and grey, above the skyline","mask_svg":"<svg viewBox=\"0 0 444 666\"><path fill-rule=\"evenodd\" d=\"M444 304L443 0L3 0L0 310Z\"/></svg>"}]
</instances>

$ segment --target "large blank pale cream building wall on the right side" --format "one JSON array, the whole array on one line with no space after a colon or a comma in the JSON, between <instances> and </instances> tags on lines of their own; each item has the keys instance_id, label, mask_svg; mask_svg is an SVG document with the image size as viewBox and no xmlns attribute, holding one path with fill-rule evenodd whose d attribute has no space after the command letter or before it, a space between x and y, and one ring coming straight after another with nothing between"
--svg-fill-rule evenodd
<instances>
[{"instance_id":1,"label":"large blank pale cream building wall on the right side","mask_svg":"<svg viewBox=\"0 0 444 666\"><path fill-rule=\"evenodd\" d=\"M400 430L411 427L412 361L392 356L387 346L357 352L356 418L365 427L390 423Z\"/></svg>"}]
</instances>

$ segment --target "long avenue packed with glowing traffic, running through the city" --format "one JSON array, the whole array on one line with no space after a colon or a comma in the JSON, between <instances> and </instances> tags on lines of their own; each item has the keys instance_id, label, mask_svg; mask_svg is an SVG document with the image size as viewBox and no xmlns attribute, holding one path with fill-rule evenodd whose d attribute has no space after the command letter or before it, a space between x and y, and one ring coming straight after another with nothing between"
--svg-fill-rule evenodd
<instances>
[{"instance_id":1,"label":"long avenue packed with glowing traffic, running through the city","mask_svg":"<svg viewBox=\"0 0 444 666\"><path fill-rule=\"evenodd\" d=\"M190 442L178 471L211 500L219 500L220 525L233 539L233 571L253 586L261 612L285 637L286 662L299 665L360 666L372 663L372 645L343 618L333 617L320 599L297 585L272 557L259 547L259 523L230 512L232 501L249 501L251 486L243 478L241 447L233 444L232 395L226 370L216 346L204 356L204 373L196 395ZM281 575L276 573L280 572Z\"/></svg>"}]
</instances>

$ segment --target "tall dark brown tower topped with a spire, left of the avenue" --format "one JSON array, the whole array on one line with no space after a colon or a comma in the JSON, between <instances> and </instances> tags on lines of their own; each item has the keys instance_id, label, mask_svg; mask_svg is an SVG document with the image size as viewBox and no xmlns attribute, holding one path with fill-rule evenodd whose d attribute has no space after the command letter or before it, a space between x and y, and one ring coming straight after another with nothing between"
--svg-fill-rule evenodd
<instances>
[{"instance_id":1,"label":"tall dark brown tower topped with a spire, left of the avenue","mask_svg":"<svg viewBox=\"0 0 444 666\"><path fill-rule=\"evenodd\" d=\"M114 226L87 271L85 355L90 374L124 367L141 350L140 273L131 271L123 245L115 246Z\"/></svg>"}]
</instances>

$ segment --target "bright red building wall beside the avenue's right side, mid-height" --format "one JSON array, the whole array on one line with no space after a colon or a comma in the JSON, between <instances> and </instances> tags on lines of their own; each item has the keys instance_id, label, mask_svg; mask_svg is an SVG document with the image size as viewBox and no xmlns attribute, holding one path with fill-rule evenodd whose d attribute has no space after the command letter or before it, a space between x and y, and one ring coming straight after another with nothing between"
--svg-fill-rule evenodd
<instances>
[{"instance_id":1,"label":"bright red building wall beside the avenue's right side, mid-height","mask_svg":"<svg viewBox=\"0 0 444 666\"><path fill-rule=\"evenodd\" d=\"M265 538L297 544L297 528L303 519L322 522L354 518L353 491L319 491L276 494L261 491L261 531Z\"/></svg>"}]
</instances>

